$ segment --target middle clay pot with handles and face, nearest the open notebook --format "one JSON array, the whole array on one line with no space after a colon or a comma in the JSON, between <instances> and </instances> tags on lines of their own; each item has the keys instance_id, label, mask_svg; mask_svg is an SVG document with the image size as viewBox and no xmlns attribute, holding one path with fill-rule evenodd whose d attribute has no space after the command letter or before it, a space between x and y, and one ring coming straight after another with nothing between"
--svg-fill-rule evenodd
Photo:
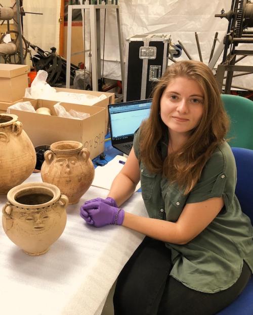
<instances>
[{"instance_id":1,"label":"middle clay pot with handles and face, nearest the open notebook","mask_svg":"<svg viewBox=\"0 0 253 315\"><path fill-rule=\"evenodd\" d=\"M45 152L41 178L60 188L69 203L78 202L94 179L94 166L90 152L77 141L58 141Z\"/></svg>"}]
</instances>

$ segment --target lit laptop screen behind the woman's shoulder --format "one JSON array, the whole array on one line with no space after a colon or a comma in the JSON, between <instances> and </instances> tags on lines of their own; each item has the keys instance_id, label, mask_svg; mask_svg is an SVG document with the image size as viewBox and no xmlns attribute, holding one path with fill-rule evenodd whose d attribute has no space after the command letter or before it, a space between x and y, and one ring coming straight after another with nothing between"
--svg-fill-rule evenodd
<instances>
[{"instance_id":1,"label":"lit laptop screen behind the woman's shoulder","mask_svg":"<svg viewBox=\"0 0 253 315\"><path fill-rule=\"evenodd\" d=\"M133 136L141 122L149 117L152 99L141 99L108 106L111 138L126 139Z\"/></svg>"}]
</instances>

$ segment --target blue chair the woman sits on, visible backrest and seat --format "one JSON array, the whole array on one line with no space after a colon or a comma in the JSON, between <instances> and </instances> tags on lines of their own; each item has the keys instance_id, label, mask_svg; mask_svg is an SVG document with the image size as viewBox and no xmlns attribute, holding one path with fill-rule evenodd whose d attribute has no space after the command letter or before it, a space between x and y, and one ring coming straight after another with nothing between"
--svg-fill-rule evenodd
<instances>
[{"instance_id":1,"label":"blue chair the woman sits on, visible backrest and seat","mask_svg":"<svg viewBox=\"0 0 253 315\"><path fill-rule=\"evenodd\" d=\"M242 211L253 224L253 150L233 147L237 168L235 194L239 199ZM239 297L217 315L252 315L253 314L253 277Z\"/></svg>"}]
</instances>

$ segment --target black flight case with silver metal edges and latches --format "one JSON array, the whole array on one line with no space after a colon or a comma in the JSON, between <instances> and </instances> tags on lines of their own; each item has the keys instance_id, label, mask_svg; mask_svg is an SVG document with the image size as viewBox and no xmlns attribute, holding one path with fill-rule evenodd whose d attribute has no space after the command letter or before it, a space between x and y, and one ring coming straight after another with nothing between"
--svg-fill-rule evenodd
<instances>
[{"instance_id":1,"label":"black flight case with silver metal edges and latches","mask_svg":"<svg viewBox=\"0 0 253 315\"><path fill-rule=\"evenodd\" d=\"M150 98L167 68L171 45L171 35L141 34L126 39L124 101Z\"/></svg>"}]
</instances>

